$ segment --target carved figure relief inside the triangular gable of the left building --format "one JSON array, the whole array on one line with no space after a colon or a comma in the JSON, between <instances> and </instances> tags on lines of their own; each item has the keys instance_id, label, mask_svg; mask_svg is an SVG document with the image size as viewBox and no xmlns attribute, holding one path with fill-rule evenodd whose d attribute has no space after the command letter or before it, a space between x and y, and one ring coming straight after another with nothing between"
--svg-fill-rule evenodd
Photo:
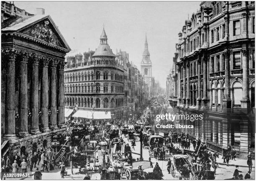
<instances>
[{"instance_id":1,"label":"carved figure relief inside the triangular gable of the left building","mask_svg":"<svg viewBox=\"0 0 256 181\"><path fill-rule=\"evenodd\" d=\"M61 41L61 37L59 37L54 26L47 19L30 26L25 30L22 30L21 33L39 40L43 40L52 45L67 48Z\"/></svg>"}]
</instances>

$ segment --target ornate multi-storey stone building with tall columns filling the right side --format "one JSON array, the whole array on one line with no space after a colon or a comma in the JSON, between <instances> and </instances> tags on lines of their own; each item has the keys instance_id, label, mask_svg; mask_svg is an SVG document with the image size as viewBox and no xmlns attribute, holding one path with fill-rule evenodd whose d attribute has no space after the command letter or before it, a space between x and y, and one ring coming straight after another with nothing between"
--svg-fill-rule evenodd
<instances>
[{"instance_id":1,"label":"ornate multi-storey stone building with tall columns filling the right side","mask_svg":"<svg viewBox=\"0 0 256 181\"><path fill-rule=\"evenodd\" d=\"M233 145L241 158L254 148L254 3L202 2L179 32L174 55L177 107L205 113L185 131L220 153Z\"/></svg>"}]
</instances>

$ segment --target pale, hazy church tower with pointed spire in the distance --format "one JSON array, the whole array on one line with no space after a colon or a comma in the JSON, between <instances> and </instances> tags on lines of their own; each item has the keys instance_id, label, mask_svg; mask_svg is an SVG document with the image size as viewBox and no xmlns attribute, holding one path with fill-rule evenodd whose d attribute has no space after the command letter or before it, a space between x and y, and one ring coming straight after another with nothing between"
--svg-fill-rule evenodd
<instances>
[{"instance_id":1,"label":"pale, hazy church tower with pointed spire in the distance","mask_svg":"<svg viewBox=\"0 0 256 181\"><path fill-rule=\"evenodd\" d=\"M144 77L144 80L149 88L149 96L151 92L151 77L152 77L152 63L150 60L150 54L148 52L148 41L147 41L147 35L145 38L144 43L144 52L142 55L142 61L141 61L141 74Z\"/></svg>"}]
</instances>

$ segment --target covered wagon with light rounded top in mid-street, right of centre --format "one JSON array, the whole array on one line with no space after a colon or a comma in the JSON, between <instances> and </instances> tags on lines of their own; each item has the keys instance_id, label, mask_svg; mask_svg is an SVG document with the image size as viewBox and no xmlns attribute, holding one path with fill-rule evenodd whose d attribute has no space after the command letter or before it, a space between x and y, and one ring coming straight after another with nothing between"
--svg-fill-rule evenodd
<instances>
[{"instance_id":1,"label":"covered wagon with light rounded top in mid-street, right of centre","mask_svg":"<svg viewBox=\"0 0 256 181\"><path fill-rule=\"evenodd\" d=\"M149 145L149 156L154 156L155 158L165 158L165 146L164 146L164 138L159 135L151 135L148 139Z\"/></svg>"}]
</instances>

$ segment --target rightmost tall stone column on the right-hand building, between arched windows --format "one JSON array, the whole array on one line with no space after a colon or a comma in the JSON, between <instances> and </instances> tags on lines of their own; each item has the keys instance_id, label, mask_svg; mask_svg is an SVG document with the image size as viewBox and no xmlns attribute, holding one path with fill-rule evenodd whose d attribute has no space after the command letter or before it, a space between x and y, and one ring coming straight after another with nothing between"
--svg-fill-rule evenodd
<instances>
[{"instance_id":1,"label":"rightmost tall stone column on the right-hand building, between arched windows","mask_svg":"<svg viewBox=\"0 0 256 181\"><path fill-rule=\"evenodd\" d=\"M243 53L243 97L241 100L241 108L250 108L249 99L249 72L248 72L248 51L242 50Z\"/></svg>"}]
</instances>

